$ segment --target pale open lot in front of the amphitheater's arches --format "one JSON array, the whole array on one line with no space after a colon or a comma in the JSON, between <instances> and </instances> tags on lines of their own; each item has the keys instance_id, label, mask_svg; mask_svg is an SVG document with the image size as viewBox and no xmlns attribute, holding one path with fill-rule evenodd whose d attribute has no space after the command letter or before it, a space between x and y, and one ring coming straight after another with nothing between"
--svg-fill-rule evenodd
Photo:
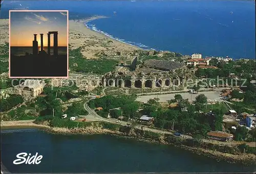
<instances>
[{"instance_id":1,"label":"pale open lot in front of the amphitheater's arches","mask_svg":"<svg viewBox=\"0 0 256 174\"><path fill-rule=\"evenodd\" d=\"M169 100L174 99L174 96L177 93L174 94L161 94L161 95L145 95L145 96L138 96L137 97L137 101L139 102L143 102L143 103L147 103L148 100L150 100L150 98L154 98L154 97L158 97L159 98L159 102L167 102ZM195 101L196 100L196 96L198 96L199 94L204 94L209 101L222 101L221 100L221 96L220 96L220 92L219 91L203 91L203 92L198 92L198 94L190 94L190 93L179 93L184 99L188 98L189 101Z\"/></svg>"}]
</instances>

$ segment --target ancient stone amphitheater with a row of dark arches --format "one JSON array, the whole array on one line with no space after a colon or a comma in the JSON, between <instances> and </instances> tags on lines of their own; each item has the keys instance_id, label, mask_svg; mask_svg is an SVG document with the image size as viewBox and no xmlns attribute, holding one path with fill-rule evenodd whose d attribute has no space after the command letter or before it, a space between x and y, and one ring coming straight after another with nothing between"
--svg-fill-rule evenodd
<instances>
[{"instance_id":1,"label":"ancient stone amphitheater with a row of dark arches","mask_svg":"<svg viewBox=\"0 0 256 174\"><path fill-rule=\"evenodd\" d=\"M104 87L169 88L192 77L193 73L183 63L150 59L138 64L136 57L129 67L108 72L101 81Z\"/></svg>"}]
</instances>

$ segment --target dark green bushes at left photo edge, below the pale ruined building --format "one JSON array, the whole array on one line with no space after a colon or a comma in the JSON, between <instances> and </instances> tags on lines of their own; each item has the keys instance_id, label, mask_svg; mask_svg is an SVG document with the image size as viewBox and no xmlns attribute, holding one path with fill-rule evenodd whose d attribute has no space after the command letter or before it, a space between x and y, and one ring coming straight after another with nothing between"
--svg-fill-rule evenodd
<instances>
[{"instance_id":1,"label":"dark green bushes at left photo edge, below the pale ruined building","mask_svg":"<svg viewBox=\"0 0 256 174\"><path fill-rule=\"evenodd\" d=\"M11 94L8 98L3 99L0 103L0 111L4 112L4 111L8 111L9 109L22 104L23 98L21 95L15 95L15 94Z\"/></svg>"}]
</instances>

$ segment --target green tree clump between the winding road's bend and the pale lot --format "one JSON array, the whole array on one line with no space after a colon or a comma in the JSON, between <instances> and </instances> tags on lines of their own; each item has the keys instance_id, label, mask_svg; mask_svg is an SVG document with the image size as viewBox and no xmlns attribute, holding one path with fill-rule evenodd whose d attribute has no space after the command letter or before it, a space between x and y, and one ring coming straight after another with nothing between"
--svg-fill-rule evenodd
<instances>
[{"instance_id":1,"label":"green tree clump between the winding road's bend and the pale lot","mask_svg":"<svg viewBox=\"0 0 256 174\"><path fill-rule=\"evenodd\" d=\"M136 95L119 95L111 96L106 95L100 98L95 98L89 102L90 108L101 107L103 110L99 111L98 114L102 117L108 116L110 109L121 108L123 111L123 116L135 117L137 115L137 110L139 109L139 103L135 101ZM117 111L119 112L119 111ZM118 116L119 114L114 114L113 116Z\"/></svg>"}]
</instances>

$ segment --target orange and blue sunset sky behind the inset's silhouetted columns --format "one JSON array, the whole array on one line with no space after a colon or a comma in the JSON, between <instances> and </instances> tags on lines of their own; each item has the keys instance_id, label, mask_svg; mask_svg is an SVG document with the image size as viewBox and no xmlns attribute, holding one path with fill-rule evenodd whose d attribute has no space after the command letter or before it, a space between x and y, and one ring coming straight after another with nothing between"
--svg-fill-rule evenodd
<instances>
[{"instance_id":1,"label":"orange and blue sunset sky behind the inset's silhouetted columns","mask_svg":"<svg viewBox=\"0 0 256 174\"><path fill-rule=\"evenodd\" d=\"M67 12L11 12L10 45L32 46L37 34L38 46L41 45L40 33L44 34L44 46L48 46L49 31L58 31L58 46L67 46ZM53 34L51 34L53 46Z\"/></svg>"}]
</instances>

